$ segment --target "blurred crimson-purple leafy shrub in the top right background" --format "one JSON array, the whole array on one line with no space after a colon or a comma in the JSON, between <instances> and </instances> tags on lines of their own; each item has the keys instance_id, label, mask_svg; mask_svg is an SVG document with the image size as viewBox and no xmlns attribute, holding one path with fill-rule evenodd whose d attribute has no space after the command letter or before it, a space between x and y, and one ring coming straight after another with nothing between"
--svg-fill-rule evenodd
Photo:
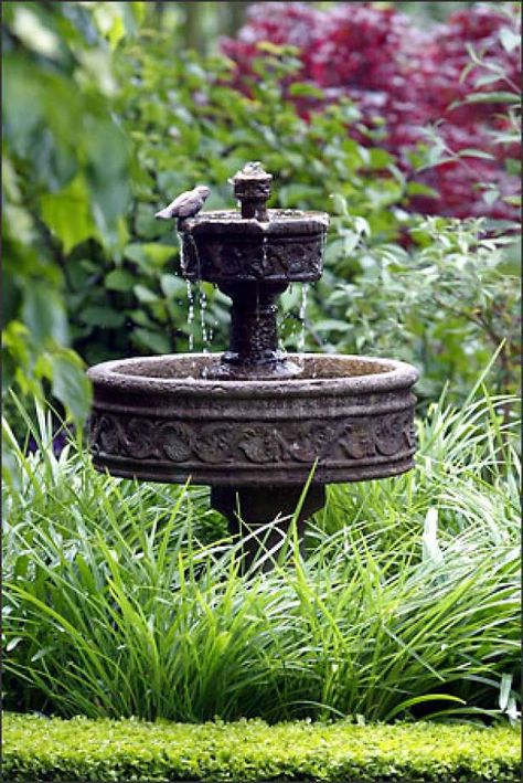
<instances>
[{"instance_id":1,"label":"blurred crimson-purple leafy shrub in the top right background","mask_svg":"<svg viewBox=\"0 0 523 783\"><path fill-rule=\"evenodd\" d=\"M293 78L321 89L289 96L303 116L342 97L353 100L361 118L349 133L384 147L409 180L434 189L413 193L413 210L517 216L515 6L477 3L421 30L372 2L327 11L305 2L256 3L237 38L222 43L242 89L248 91L267 42L296 46L301 68Z\"/></svg>"}]
</instances>

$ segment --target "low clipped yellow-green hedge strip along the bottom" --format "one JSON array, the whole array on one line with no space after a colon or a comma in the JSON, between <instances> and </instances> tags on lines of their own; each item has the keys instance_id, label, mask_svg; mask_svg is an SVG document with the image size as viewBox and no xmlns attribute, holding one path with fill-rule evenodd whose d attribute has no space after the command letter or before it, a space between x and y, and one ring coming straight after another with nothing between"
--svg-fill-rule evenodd
<instances>
[{"instance_id":1,"label":"low clipped yellow-green hedge strip along the bottom","mask_svg":"<svg viewBox=\"0 0 523 783\"><path fill-rule=\"evenodd\" d=\"M520 779L509 727L418 722L268 726L62 720L7 713L3 780L504 783Z\"/></svg>"}]
</instances>

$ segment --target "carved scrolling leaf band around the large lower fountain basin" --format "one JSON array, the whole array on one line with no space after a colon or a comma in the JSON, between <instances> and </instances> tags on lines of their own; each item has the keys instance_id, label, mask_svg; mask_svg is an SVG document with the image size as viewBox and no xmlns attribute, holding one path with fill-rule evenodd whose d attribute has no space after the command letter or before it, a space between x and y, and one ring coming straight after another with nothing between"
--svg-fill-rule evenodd
<instances>
[{"instance_id":1,"label":"carved scrolling leaf band around the large lower fountain basin","mask_svg":"<svg viewBox=\"0 0 523 783\"><path fill-rule=\"evenodd\" d=\"M334 419L329 423L167 421L93 413L90 447L104 456L177 464L322 464L395 457L415 447L413 412Z\"/></svg>"}]
</instances>

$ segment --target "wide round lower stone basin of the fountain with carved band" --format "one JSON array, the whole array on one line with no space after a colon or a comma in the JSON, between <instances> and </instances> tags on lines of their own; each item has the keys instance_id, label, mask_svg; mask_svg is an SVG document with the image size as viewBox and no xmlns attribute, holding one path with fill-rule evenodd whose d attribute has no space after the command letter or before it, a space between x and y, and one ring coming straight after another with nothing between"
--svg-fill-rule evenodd
<instances>
[{"instance_id":1,"label":"wide round lower stone basin of the fountain with carved band","mask_svg":"<svg viewBox=\"0 0 523 783\"><path fill-rule=\"evenodd\" d=\"M115 476L214 487L300 487L414 466L415 368L391 359L290 355L299 377L214 380L209 353L92 368L89 445Z\"/></svg>"}]
</instances>

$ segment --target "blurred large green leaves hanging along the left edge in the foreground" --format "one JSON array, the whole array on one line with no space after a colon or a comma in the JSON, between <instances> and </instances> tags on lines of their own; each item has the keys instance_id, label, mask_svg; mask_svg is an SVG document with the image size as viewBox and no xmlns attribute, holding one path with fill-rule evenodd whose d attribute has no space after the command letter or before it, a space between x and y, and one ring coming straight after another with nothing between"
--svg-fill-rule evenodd
<instances>
[{"instance_id":1,"label":"blurred large green leaves hanging along the left edge in the foreground","mask_svg":"<svg viewBox=\"0 0 523 783\"><path fill-rule=\"evenodd\" d=\"M143 3L6 2L3 12L2 388L52 392L82 420L89 384L64 292L75 246L117 257L126 243L130 155L111 53Z\"/></svg>"}]
</instances>

